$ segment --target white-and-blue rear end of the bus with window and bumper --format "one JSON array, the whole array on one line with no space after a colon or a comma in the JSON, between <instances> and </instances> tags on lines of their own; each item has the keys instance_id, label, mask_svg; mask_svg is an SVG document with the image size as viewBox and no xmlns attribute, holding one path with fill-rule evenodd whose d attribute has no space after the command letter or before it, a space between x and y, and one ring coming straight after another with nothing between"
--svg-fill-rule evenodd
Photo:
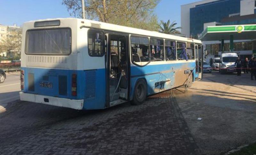
<instances>
[{"instance_id":1,"label":"white-and-blue rear end of the bus with window and bumper","mask_svg":"<svg viewBox=\"0 0 256 155\"><path fill-rule=\"evenodd\" d=\"M83 94L77 93L76 83L81 77L78 54L72 44L76 25L76 19L24 24L20 100L83 109Z\"/></svg>"}]
</instances>

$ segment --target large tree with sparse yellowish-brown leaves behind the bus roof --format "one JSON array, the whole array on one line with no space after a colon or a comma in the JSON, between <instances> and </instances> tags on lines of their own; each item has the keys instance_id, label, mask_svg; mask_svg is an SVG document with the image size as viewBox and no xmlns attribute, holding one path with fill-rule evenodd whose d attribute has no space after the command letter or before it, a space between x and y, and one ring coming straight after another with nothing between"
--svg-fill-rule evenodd
<instances>
[{"instance_id":1,"label":"large tree with sparse yellowish-brown leaves behind the bus roof","mask_svg":"<svg viewBox=\"0 0 256 155\"><path fill-rule=\"evenodd\" d=\"M160 0L84 0L88 19L157 31L153 14ZM81 0L63 0L71 15L81 17Z\"/></svg>"}]
</instances>

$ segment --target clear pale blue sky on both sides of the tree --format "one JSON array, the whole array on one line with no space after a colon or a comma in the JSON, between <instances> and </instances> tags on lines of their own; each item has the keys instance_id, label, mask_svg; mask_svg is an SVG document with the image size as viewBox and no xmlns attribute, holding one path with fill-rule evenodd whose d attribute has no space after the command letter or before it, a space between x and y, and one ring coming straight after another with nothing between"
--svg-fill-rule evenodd
<instances>
[{"instance_id":1,"label":"clear pale blue sky on both sides of the tree","mask_svg":"<svg viewBox=\"0 0 256 155\"><path fill-rule=\"evenodd\" d=\"M161 0L155 14L159 21L176 21L180 26L180 6L198 0ZM21 26L24 22L70 16L62 0L0 0L0 24Z\"/></svg>"}]
</instances>

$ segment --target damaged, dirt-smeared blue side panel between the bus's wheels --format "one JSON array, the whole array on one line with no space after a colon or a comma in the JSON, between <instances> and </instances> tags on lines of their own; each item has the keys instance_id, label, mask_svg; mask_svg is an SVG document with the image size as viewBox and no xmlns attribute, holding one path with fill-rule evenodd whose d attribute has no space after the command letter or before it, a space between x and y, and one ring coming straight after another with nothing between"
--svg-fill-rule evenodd
<instances>
[{"instance_id":1,"label":"damaged, dirt-smeared blue side panel between the bus's wheels","mask_svg":"<svg viewBox=\"0 0 256 155\"><path fill-rule=\"evenodd\" d=\"M185 84L188 78L185 71L191 70L195 75L195 66L195 62L147 65L145 67L131 66L131 100L138 79L144 78L147 81L148 95L153 95Z\"/></svg>"}]
</instances>

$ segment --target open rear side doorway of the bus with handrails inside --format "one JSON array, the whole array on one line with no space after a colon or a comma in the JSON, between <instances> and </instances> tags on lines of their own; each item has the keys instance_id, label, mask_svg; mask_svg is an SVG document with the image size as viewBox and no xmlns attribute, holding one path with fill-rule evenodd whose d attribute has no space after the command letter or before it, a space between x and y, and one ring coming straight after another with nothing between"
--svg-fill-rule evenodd
<instances>
[{"instance_id":1,"label":"open rear side doorway of the bus with handrails inside","mask_svg":"<svg viewBox=\"0 0 256 155\"><path fill-rule=\"evenodd\" d=\"M122 104L128 100L128 35L118 33L107 34L107 55L109 60L109 104L114 106Z\"/></svg>"}]
</instances>

